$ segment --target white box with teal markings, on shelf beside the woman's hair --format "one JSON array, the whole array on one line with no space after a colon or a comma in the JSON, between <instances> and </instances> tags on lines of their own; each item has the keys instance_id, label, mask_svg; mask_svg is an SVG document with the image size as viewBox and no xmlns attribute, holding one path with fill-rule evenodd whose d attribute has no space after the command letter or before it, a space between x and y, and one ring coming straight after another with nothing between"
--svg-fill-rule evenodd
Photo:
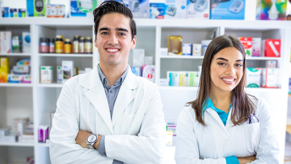
<instances>
[{"instance_id":1,"label":"white box with teal markings, on shelf beside the woman's hair","mask_svg":"<svg viewBox=\"0 0 291 164\"><path fill-rule=\"evenodd\" d=\"M247 88L260 88L262 68L247 68L245 85Z\"/></svg>"}]
</instances>

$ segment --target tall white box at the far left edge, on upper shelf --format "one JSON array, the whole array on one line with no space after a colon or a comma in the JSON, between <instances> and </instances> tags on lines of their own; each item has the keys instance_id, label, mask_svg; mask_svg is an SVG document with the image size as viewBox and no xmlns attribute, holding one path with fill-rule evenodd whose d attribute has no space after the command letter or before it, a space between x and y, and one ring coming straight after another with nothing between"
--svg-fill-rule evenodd
<instances>
[{"instance_id":1,"label":"tall white box at the far left edge, on upper shelf","mask_svg":"<svg viewBox=\"0 0 291 164\"><path fill-rule=\"evenodd\" d=\"M11 53L11 31L0 32L1 53Z\"/></svg>"}]
</instances>

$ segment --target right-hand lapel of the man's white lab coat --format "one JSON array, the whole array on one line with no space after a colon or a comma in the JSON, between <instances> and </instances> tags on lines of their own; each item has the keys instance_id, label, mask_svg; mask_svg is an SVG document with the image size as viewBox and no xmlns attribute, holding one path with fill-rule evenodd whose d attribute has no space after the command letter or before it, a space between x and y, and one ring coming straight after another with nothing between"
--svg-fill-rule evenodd
<instances>
[{"instance_id":1,"label":"right-hand lapel of the man's white lab coat","mask_svg":"<svg viewBox=\"0 0 291 164\"><path fill-rule=\"evenodd\" d=\"M136 92L134 92L133 89L138 88L138 86L138 77L131 72L130 67L128 66L128 73L121 84L121 89L119 90L116 103L114 104L112 116L113 126L118 121L118 118L121 117L123 111L126 110L128 104L136 97Z\"/></svg>"}]
</instances>

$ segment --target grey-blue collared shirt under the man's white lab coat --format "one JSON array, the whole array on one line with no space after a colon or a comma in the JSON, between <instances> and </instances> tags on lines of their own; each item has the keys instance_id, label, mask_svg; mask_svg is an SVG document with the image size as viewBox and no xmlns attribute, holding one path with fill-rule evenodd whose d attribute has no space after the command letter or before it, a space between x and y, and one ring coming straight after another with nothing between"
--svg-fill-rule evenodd
<instances>
[{"instance_id":1,"label":"grey-blue collared shirt under the man's white lab coat","mask_svg":"<svg viewBox=\"0 0 291 164\"><path fill-rule=\"evenodd\" d=\"M126 68L126 71L123 73L123 75L116 81L116 83L113 86L108 86L108 81L107 81L106 77L104 76L103 72L101 71L99 64L98 64L98 73L99 73L100 80L103 84L104 91L106 93L106 98L107 98L107 102L108 102L108 106L109 106L110 116L112 119L114 104L116 102L116 98L118 96L119 89L121 88L121 84L123 83L123 81L126 78L126 75L128 73L128 67ZM98 147L98 152L102 156L106 156L105 138L106 138L106 135L102 135L100 143L99 143L99 147ZM123 164L123 162L121 162L119 160L113 160L112 164Z\"/></svg>"}]
</instances>

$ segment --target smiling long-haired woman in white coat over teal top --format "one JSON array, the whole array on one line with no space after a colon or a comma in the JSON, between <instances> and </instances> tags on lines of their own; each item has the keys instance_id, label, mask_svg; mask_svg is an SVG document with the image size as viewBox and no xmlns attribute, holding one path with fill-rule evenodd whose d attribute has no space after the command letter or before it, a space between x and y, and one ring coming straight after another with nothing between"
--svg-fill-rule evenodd
<instances>
[{"instance_id":1,"label":"smiling long-haired woman in white coat over teal top","mask_svg":"<svg viewBox=\"0 0 291 164\"><path fill-rule=\"evenodd\" d=\"M178 164L279 163L270 106L245 86L245 50L235 36L209 44L198 98L178 118Z\"/></svg>"}]
</instances>

